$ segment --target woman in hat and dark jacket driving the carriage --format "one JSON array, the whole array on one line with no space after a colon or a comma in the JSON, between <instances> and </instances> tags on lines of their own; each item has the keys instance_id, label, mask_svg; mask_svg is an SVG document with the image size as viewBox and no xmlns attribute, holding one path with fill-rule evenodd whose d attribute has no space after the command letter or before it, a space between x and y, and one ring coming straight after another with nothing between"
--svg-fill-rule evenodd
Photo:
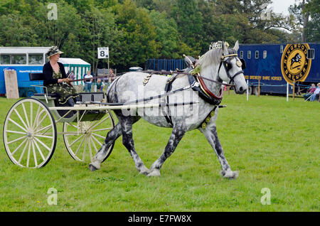
<instances>
[{"instance_id":1,"label":"woman in hat and dark jacket driving the carriage","mask_svg":"<svg viewBox=\"0 0 320 226\"><path fill-rule=\"evenodd\" d=\"M43 85L47 87L48 93L58 95L58 104L68 103L69 106L74 106L78 100L78 93L75 88L70 85L70 79L65 74L65 67L58 62L61 52L57 46L52 46L48 50L48 63L43 65ZM67 84L63 83L67 82Z\"/></svg>"}]
</instances>

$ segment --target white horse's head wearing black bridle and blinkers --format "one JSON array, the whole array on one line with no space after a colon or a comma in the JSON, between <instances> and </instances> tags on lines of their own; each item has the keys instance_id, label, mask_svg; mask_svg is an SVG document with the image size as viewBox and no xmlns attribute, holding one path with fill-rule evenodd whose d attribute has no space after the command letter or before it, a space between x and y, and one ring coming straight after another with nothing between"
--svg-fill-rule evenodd
<instances>
[{"instance_id":1,"label":"white horse's head wearing black bridle and blinkers","mask_svg":"<svg viewBox=\"0 0 320 226\"><path fill-rule=\"evenodd\" d=\"M218 70L220 80L228 83L234 83L235 93L242 94L247 90L247 83L243 75L245 61L238 58L238 41L233 48L228 48L225 42L222 42L221 61Z\"/></svg>"}]
</instances>

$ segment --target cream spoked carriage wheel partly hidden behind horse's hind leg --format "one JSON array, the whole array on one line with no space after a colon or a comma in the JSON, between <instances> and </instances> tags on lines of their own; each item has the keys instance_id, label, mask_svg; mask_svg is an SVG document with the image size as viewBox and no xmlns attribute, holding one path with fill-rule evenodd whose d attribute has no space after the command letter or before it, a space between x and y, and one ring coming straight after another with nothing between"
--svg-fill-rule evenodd
<instances>
[{"instance_id":1,"label":"cream spoked carriage wheel partly hidden behind horse's hind leg","mask_svg":"<svg viewBox=\"0 0 320 226\"><path fill-rule=\"evenodd\" d=\"M107 132L114 128L111 112L107 111L102 119L92 122L65 122L63 124L63 140L70 156L76 161L89 163L105 141ZM110 156L114 144L110 146ZM105 161L104 159L104 161Z\"/></svg>"}]
</instances>

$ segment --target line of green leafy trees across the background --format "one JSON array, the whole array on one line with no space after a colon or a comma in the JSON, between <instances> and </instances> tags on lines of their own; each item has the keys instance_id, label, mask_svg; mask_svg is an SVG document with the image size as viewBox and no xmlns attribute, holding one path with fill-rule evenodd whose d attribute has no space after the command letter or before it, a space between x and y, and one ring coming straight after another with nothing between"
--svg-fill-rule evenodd
<instances>
[{"instance_id":1,"label":"line of green leafy trees across the background","mask_svg":"<svg viewBox=\"0 0 320 226\"><path fill-rule=\"evenodd\" d=\"M148 58L206 53L213 41L286 43L319 41L320 0L290 6L289 16L270 10L272 0L1 0L1 46L58 45L92 70L106 68L97 48L110 48L119 71ZM51 15L52 16L52 15Z\"/></svg>"}]
</instances>

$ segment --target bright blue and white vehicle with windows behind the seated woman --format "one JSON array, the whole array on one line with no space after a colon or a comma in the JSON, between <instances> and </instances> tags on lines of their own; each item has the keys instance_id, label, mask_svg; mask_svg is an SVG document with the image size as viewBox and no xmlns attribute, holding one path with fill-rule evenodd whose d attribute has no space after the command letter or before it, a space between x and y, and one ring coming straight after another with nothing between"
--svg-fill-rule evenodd
<instances>
[{"instance_id":1,"label":"bright blue and white vehicle with windows behind the seated woman","mask_svg":"<svg viewBox=\"0 0 320 226\"><path fill-rule=\"evenodd\" d=\"M0 95L6 94L4 70L15 70L20 97L31 97L41 92L39 82L29 80L29 73L41 73L50 47L0 47Z\"/></svg>"}]
</instances>

